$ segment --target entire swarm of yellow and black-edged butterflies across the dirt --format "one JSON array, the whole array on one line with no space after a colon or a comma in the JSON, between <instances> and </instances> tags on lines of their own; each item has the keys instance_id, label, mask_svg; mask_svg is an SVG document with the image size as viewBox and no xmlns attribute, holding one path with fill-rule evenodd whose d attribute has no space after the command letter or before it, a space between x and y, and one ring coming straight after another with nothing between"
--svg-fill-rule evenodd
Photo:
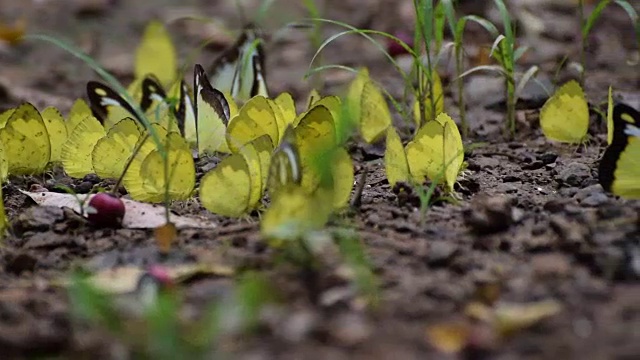
<instances>
[{"instance_id":1,"label":"entire swarm of yellow and black-edged butterflies across the dirt","mask_svg":"<svg viewBox=\"0 0 640 360\"><path fill-rule=\"evenodd\" d=\"M134 200L185 200L195 192L194 157L216 155L222 160L199 183L201 204L240 217L261 209L268 193L263 233L295 237L323 226L333 211L347 206L354 170L344 144L357 128L367 143L386 138L390 184L428 178L453 191L464 150L456 123L443 112L437 74L430 90L435 114L420 116L416 101L416 132L403 146L367 69L358 72L344 101L312 92L297 114L290 94L270 98L262 40L251 26L208 70L194 66L192 88L178 76L176 64L169 34L154 21L138 47L135 80L126 92L91 81L89 104L77 100L66 118L53 107L40 112L29 103L0 114L0 177L42 173L58 163L75 178L123 176ZM570 109L576 118L571 124L588 125L586 100L576 85L563 86L542 109L542 129L550 138L574 142L586 135L586 128L577 134L548 121ZM628 150L638 144L640 116L622 104L609 113L610 146L600 181L616 194L640 197L640 160Z\"/></svg>"}]
</instances>

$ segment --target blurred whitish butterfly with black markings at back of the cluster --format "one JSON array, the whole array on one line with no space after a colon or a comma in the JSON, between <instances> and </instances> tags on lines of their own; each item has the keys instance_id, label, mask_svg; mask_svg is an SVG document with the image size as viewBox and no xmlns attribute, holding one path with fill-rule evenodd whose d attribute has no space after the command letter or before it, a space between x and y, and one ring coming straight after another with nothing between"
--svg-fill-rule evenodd
<instances>
[{"instance_id":1,"label":"blurred whitish butterfly with black markings at back of the cluster","mask_svg":"<svg viewBox=\"0 0 640 360\"><path fill-rule=\"evenodd\" d=\"M247 25L209 68L211 84L240 103L256 95L268 97L262 41L256 28Z\"/></svg>"}]
</instances>

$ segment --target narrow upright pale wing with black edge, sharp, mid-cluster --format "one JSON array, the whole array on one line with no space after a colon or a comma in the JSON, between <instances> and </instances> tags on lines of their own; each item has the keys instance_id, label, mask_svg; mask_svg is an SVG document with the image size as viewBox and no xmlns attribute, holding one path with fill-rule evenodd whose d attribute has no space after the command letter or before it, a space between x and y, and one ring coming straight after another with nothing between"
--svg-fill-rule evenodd
<instances>
[{"instance_id":1,"label":"narrow upright pale wing with black edge, sharp, mid-cluster","mask_svg":"<svg viewBox=\"0 0 640 360\"><path fill-rule=\"evenodd\" d=\"M225 134L230 117L229 103L222 92L211 86L200 64L195 65L193 76L198 154L228 152Z\"/></svg>"}]
</instances>

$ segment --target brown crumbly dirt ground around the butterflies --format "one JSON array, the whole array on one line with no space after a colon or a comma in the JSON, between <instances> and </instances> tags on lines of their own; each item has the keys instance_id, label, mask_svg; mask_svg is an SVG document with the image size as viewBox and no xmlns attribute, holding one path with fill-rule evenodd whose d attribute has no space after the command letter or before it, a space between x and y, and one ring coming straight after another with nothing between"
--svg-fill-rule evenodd
<instances>
[{"instance_id":1,"label":"brown crumbly dirt ground around the butterflies","mask_svg":"<svg viewBox=\"0 0 640 360\"><path fill-rule=\"evenodd\" d=\"M68 39L121 79L130 80L135 46L148 20L171 22L169 29L181 59L213 37L214 44L197 55L198 61L208 64L233 37L220 33L220 26L175 19L204 16L237 30L241 19L234 3L0 0L0 22L11 24L22 18L29 33ZM259 2L242 3L245 9L252 9ZM266 30L274 33L286 23L305 18L300 3L274 2L266 17ZM318 3L326 18L360 28L411 31L411 1ZM483 9L478 3L482 2L462 1L460 9L496 19L491 6ZM519 21L520 43L531 47L519 70L538 65L540 82L549 85L575 78L571 66L558 70L565 56L570 61L579 59L576 9L567 5L571 1L508 3ZM251 18L251 11L244 16ZM336 31L336 27L326 26L323 35ZM474 26L469 27L465 39L472 61L481 47L492 42ZM617 98L638 108L639 54L633 28L622 10L611 7L604 12L588 51L585 90L590 104L602 109L608 87L613 85ZM293 29L274 37L267 47L270 90L289 91L302 104L311 86L303 75L314 52L304 30ZM322 61L367 66L393 96L402 97L403 85L394 68L362 38L341 38L327 47ZM444 62L440 68L445 86L452 81L451 69ZM2 108L30 101L40 109L57 106L64 113L74 99L85 97L86 82L95 78L80 61L43 42L0 48ZM321 92L338 93L351 78L340 71L325 72ZM458 111L453 88L446 90L446 110L455 119ZM177 206L182 214L203 214L219 222L219 227L181 231L171 255L164 259L155 248L151 231L78 226L68 213L42 210L18 191L32 184L78 186L81 181L59 174L12 178L3 187L4 201L8 216L20 231L0 247L0 353L6 358L96 354L118 358L111 338L72 326L66 293L52 281L78 263L97 269L145 266L194 261L206 253L237 269L268 274L287 306L277 321L239 339L229 349L231 358L637 358L640 203L605 194L597 183L597 164L606 146L603 120L592 113L591 140L586 145L547 141L537 120L547 95L534 84L519 103L517 139L507 141L502 135L505 109L501 91L501 81L493 75L479 73L467 79L471 135L466 142L484 145L465 158L468 166L457 185L460 200L434 205L424 222L411 197L399 199L386 181L381 148L351 147L356 177L365 167L370 173L361 207L339 223L355 228L365 244L380 287L381 302L375 310L359 307L353 294L338 295L337 301L328 303L314 301L314 297L326 300L344 293L340 292L346 285L337 275L339 269L324 267L317 294L310 296L296 269L280 266L273 250L261 242L255 215L229 220L207 215L197 205ZM407 139L410 127L398 116L396 120ZM206 294L228 286L227 280L231 281L204 277L186 284L187 301L202 302ZM439 352L428 341L426 329L463 318L465 305L488 285L499 287L501 301L554 299L562 304L562 310L508 339L477 346L486 351L470 347L455 356Z\"/></svg>"}]
</instances>

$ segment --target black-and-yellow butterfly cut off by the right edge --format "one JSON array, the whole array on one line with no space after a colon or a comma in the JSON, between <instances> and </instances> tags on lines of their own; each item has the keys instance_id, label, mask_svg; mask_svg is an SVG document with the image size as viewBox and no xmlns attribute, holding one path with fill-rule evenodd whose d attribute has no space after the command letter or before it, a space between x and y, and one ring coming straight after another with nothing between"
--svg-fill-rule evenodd
<instances>
[{"instance_id":1,"label":"black-and-yellow butterfly cut off by the right edge","mask_svg":"<svg viewBox=\"0 0 640 360\"><path fill-rule=\"evenodd\" d=\"M600 160L598 180L606 191L640 199L640 113L628 105L613 107L613 139Z\"/></svg>"}]
</instances>

